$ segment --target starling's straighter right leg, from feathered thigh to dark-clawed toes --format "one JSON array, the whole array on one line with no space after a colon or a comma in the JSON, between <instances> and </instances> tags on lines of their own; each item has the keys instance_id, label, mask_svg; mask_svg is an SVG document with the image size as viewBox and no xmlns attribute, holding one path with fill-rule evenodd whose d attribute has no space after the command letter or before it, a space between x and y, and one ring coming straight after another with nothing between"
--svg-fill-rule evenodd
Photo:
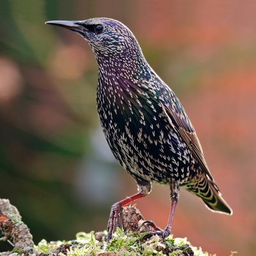
<instances>
[{"instance_id":1,"label":"starling's straighter right leg, from feathered thigh to dark-clawed toes","mask_svg":"<svg viewBox=\"0 0 256 256\"><path fill-rule=\"evenodd\" d=\"M173 214L174 214L175 207L177 205L177 202L179 200L179 195L180 195L179 182L172 179L172 182L170 184L170 189L171 189L171 196L170 196L170 198L171 198L171 209L170 209L170 214L169 214L168 223L167 223L166 228L164 228L164 230L161 230L161 228L157 227L156 224L153 221L144 221L142 224L148 223L148 225L153 227L155 231L148 232L147 234L145 234L141 238L141 240L146 239L146 238L150 238L150 237L152 237L153 235L156 235L156 234L158 236L162 236L163 238L167 237L171 234Z\"/></svg>"}]
</instances>

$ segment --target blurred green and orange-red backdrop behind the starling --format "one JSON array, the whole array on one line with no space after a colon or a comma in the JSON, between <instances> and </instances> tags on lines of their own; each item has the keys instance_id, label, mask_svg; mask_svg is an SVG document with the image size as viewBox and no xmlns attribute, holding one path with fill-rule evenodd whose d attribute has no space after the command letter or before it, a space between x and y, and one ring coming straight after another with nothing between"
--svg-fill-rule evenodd
<instances>
[{"instance_id":1,"label":"blurred green and orange-red backdrop behind the starling","mask_svg":"<svg viewBox=\"0 0 256 256\"><path fill-rule=\"evenodd\" d=\"M136 193L97 115L97 63L81 36L47 20L118 19L182 102L233 216L181 191L172 234L217 255L256 251L256 4L253 0L0 1L0 197L35 243L106 229ZM168 186L137 206L164 228ZM0 241L0 251L11 249Z\"/></svg>"}]
</instances>

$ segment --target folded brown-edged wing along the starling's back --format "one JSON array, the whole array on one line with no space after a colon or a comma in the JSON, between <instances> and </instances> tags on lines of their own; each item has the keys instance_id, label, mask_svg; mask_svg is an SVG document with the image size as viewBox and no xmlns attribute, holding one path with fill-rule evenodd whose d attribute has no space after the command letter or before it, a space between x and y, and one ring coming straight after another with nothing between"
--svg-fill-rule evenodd
<instances>
[{"instance_id":1,"label":"folded brown-edged wing along the starling's back","mask_svg":"<svg viewBox=\"0 0 256 256\"><path fill-rule=\"evenodd\" d=\"M200 165L201 169L213 181L212 175L209 171L207 163L204 159L204 153L196 136L194 127L192 126L188 116L182 108L179 99L172 94L172 104L169 102L161 102L162 109L168 118L168 121L172 125L173 129L180 135L182 140L186 143L189 150L196 159L196 162Z\"/></svg>"}]
</instances>

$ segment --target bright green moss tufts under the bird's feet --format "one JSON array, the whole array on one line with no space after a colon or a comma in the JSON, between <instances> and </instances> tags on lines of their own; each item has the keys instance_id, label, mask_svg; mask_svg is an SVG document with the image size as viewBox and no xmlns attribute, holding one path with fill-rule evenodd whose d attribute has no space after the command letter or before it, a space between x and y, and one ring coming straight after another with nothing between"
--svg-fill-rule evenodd
<instances>
[{"instance_id":1,"label":"bright green moss tufts under the bird's feet","mask_svg":"<svg viewBox=\"0 0 256 256\"><path fill-rule=\"evenodd\" d=\"M102 237L106 237L107 232L105 230L100 234ZM115 234L113 234L113 239L110 243L106 243L105 241L97 241L93 231L89 234L79 232L76 235L76 240L68 242L70 247L67 249L67 256L93 256L107 252L120 256L186 256L193 255L193 253L195 256L216 256L215 254L202 252L201 248L191 246L186 237L173 238L173 235L170 235L163 240L159 236L152 236L147 241L141 241L143 235L138 234L138 232L127 232L125 234L120 228L117 228ZM38 246L35 246L35 250L48 252L56 250L63 243L65 241L47 243L42 240ZM60 255L65 256L63 253L60 253Z\"/></svg>"}]
</instances>

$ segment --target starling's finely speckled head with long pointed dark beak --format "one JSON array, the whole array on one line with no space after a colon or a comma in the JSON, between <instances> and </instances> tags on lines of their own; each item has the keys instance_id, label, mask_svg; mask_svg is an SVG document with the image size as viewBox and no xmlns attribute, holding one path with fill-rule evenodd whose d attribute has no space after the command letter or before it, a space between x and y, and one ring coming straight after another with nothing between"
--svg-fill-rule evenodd
<instances>
[{"instance_id":1,"label":"starling's finely speckled head with long pointed dark beak","mask_svg":"<svg viewBox=\"0 0 256 256\"><path fill-rule=\"evenodd\" d=\"M143 58L135 36L117 20L94 18L82 21L53 20L45 23L70 29L83 36L92 48L98 63L101 59L122 62L124 58L126 61Z\"/></svg>"}]
</instances>

